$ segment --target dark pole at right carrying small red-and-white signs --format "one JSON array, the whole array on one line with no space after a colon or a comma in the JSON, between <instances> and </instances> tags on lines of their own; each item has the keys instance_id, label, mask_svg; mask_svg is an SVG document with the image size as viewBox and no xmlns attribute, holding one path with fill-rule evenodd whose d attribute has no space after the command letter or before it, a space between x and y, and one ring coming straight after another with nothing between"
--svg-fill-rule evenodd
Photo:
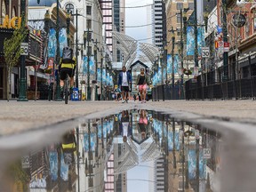
<instances>
[{"instance_id":1,"label":"dark pole at right carrying small red-and-white signs","mask_svg":"<svg viewBox=\"0 0 256 192\"><path fill-rule=\"evenodd\" d=\"M228 43L228 29L227 29L227 2L226 0L222 0L223 7L223 42ZM223 81L228 81L228 52L223 52L223 68L224 68L224 76Z\"/></svg>"}]
</instances>

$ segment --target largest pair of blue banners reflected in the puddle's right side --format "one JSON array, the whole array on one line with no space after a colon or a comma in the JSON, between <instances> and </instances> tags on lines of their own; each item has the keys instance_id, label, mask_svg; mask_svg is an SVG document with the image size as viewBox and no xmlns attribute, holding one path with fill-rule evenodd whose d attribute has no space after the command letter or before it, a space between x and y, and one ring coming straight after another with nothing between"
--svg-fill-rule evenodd
<instances>
[{"instance_id":1,"label":"largest pair of blue banners reflected in the puddle's right side","mask_svg":"<svg viewBox=\"0 0 256 192\"><path fill-rule=\"evenodd\" d=\"M206 176L206 163L203 158L203 150L199 152L199 178L204 180ZM196 180L196 149L188 150L188 178Z\"/></svg>"}]
</instances>

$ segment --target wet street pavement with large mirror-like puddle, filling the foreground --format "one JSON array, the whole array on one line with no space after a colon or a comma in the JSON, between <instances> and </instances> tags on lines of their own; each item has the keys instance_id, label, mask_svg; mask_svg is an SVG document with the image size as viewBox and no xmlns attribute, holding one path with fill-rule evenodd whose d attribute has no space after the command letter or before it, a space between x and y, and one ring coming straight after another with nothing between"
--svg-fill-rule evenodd
<instances>
[{"instance_id":1,"label":"wet street pavement with large mirror-like puddle, filling the foreground","mask_svg":"<svg viewBox=\"0 0 256 192\"><path fill-rule=\"evenodd\" d=\"M0 191L255 191L254 102L233 102L1 103Z\"/></svg>"}]
</instances>

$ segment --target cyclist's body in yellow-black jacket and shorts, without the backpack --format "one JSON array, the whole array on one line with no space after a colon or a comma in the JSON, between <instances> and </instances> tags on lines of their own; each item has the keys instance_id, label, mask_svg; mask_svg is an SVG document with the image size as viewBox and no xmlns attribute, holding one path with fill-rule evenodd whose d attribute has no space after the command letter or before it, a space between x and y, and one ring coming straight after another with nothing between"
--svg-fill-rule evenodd
<instances>
[{"instance_id":1,"label":"cyclist's body in yellow-black jacket and shorts, without the backpack","mask_svg":"<svg viewBox=\"0 0 256 192\"><path fill-rule=\"evenodd\" d=\"M59 65L60 97L62 97L62 98L63 98L64 80L66 79L67 74L70 77L69 93L71 94L73 92L75 69L76 69L76 57L73 57L73 59L70 63L62 63L62 59L60 59L60 65Z\"/></svg>"}]
</instances>

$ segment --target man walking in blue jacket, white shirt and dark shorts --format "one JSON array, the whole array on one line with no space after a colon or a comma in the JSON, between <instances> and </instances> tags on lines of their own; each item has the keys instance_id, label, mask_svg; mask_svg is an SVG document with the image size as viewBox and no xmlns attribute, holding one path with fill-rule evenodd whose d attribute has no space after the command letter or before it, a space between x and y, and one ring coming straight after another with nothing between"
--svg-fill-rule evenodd
<instances>
[{"instance_id":1,"label":"man walking in blue jacket, white shirt and dark shorts","mask_svg":"<svg viewBox=\"0 0 256 192\"><path fill-rule=\"evenodd\" d=\"M123 66L122 72L119 73L118 76L118 86L121 87L122 92L122 102L125 101L128 103L129 99L129 86L132 86L132 76L129 71L126 71L126 67Z\"/></svg>"}]
</instances>

